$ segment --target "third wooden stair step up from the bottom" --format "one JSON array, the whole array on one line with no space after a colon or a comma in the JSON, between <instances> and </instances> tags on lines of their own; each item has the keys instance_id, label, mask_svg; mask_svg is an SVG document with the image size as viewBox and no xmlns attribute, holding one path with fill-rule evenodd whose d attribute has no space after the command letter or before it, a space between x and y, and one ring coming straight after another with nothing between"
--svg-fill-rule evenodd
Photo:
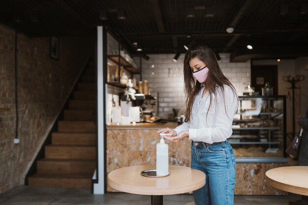
<instances>
[{"instance_id":1,"label":"third wooden stair step up from the bottom","mask_svg":"<svg viewBox=\"0 0 308 205\"><path fill-rule=\"evenodd\" d=\"M95 146L48 145L45 146L47 159L95 159Z\"/></svg>"}]
</instances>

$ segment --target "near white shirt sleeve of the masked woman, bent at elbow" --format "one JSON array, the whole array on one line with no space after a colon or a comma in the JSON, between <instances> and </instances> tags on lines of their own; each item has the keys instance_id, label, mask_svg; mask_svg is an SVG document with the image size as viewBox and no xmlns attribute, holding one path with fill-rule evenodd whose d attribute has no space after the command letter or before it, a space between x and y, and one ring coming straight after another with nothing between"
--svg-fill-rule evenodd
<instances>
[{"instance_id":1,"label":"near white shirt sleeve of the masked woman, bent at elbow","mask_svg":"<svg viewBox=\"0 0 308 205\"><path fill-rule=\"evenodd\" d=\"M225 141L232 134L231 127L234 114L238 109L238 98L230 87L224 89L224 97L223 101L222 92L217 93L214 127L189 129L190 140L213 144Z\"/></svg>"}]
</instances>

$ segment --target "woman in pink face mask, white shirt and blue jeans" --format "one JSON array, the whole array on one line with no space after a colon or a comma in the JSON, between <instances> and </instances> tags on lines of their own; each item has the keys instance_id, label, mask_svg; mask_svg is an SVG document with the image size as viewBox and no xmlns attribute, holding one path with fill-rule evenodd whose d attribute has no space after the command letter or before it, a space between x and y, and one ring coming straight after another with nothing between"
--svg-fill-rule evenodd
<instances>
[{"instance_id":1,"label":"woman in pink face mask, white shirt and blue jeans","mask_svg":"<svg viewBox=\"0 0 308 205\"><path fill-rule=\"evenodd\" d=\"M187 50L184 59L185 122L165 139L191 142L191 168L206 174L206 184L194 191L196 205L233 205L235 156L227 141L238 109L235 88L221 72L213 51L203 45Z\"/></svg>"}]
</instances>

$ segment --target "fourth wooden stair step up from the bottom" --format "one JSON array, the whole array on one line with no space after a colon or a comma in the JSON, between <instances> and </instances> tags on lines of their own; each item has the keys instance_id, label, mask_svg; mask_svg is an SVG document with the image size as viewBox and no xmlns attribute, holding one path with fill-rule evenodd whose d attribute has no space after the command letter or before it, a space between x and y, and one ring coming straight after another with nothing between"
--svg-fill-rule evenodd
<instances>
[{"instance_id":1,"label":"fourth wooden stair step up from the bottom","mask_svg":"<svg viewBox=\"0 0 308 205\"><path fill-rule=\"evenodd\" d=\"M94 133L52 133L53 145L92 145L96 144Z\"/></svg>"}]
</instances>

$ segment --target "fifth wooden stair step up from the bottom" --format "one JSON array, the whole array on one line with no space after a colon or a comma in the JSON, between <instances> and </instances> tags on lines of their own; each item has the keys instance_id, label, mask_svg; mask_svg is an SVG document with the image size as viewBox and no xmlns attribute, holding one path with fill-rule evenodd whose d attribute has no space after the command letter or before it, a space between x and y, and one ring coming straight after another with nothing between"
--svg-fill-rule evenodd
<instances>
[{"instance_id":1,"label":"fifth wooden stair step up from the bottom","mask_svg":"<svg viewBox=\"0 0 308 205\"><path fill-rule=\"evenodd\" d=\"M93 121L58 121L59 132L95 133Z\"/></svg>"}]
</instances>

